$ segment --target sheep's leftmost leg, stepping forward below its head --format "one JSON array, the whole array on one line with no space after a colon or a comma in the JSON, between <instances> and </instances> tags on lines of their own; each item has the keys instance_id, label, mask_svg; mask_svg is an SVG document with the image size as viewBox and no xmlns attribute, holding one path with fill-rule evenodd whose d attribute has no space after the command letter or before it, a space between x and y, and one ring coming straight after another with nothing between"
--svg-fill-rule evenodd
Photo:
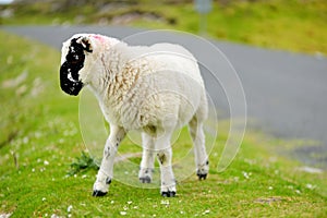
<instances>
[{"instance_id":1,"label":"sheep's leftmost leg, stepping forward below its head","mask_svg":"<svg viewBox=\"0 0 327 218\"><path fill-rule=\"evenodd\" d=\"M122 128L110 125L110 135L106 142L101 166L93 186L93 196L104 196L108 193L113 177L114 156L124 136L125 131Z\"/></svg>"}]
</instances>

